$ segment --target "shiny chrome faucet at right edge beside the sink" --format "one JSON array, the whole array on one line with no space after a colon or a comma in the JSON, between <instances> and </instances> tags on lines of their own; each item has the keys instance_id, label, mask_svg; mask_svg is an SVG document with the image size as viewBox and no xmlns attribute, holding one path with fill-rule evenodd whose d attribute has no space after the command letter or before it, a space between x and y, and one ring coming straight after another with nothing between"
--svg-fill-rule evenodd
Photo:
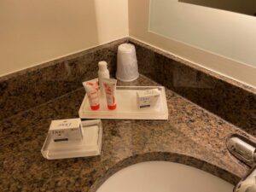
<instances>
[{"instance_id":1,"label":"shiny chrome faucet at right edge beside the sink","mask_svg":"<svg viewBox=\"0 0 256 192\"><path fill-rule=\"evenodd\" d=\"M241 136L231 136L227 148L238 160L253 167L246 177L237 183L234 192L256 192L256 146L255 143Z\"/></svg>"}]
</instances>

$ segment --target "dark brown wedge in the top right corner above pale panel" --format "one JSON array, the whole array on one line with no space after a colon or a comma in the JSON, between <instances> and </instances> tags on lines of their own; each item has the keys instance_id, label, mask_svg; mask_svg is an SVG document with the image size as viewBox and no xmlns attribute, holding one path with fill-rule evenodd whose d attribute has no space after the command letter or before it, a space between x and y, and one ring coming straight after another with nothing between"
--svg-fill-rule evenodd
<instances>
[{"instance_id":1,"label":"dark brown wedge in the top right corner above pale panel","mask_svg":"<svg viewBox=\"0 0 256 192\"><path fill-rule=\"evenodd\" d=\"M255 0L179 0L179 2L256 16Z\"/></svg>"}]
</instances>

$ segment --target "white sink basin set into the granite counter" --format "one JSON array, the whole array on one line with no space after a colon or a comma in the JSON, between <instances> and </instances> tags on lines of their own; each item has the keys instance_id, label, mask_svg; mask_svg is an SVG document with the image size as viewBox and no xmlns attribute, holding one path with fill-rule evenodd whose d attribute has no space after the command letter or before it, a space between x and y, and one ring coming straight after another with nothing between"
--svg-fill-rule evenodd
<instances>
[{"instance_id":1,"label":"white sink basin set into the granite counter","mask_svg":"<svg viewBox=\"0 0 256 192\"><path fill-rule=\"evenodd\" d=\"M109 177L97 192L232 192L234 186L191 166L148 161Z\"/></svg>"}]
</instances>

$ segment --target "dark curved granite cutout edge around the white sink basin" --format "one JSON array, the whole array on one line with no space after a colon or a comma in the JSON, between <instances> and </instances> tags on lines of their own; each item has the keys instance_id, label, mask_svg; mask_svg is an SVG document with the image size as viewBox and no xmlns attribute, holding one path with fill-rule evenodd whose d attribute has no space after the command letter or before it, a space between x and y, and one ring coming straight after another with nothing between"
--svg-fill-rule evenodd
<instances>
[{"instance_id":1,"label":"dark curved granite cutout edge around the white sink basin","mask_svg":"<svg viewBox=\"0 0 256 192\"><path fill-rule=\"evenodd\" d=\"M145 154L134 154L128 158L125 158L124 160L120 160L119 162L114 163L114 165L111 167L102 167L102 169L105 170L103 173L102 169L99 169L101 171L96 172L96 175L99 177L97 177L95 182L92 183L89 192L96 192L102 183L107 181L108 178L113 176L114 173L119 172L128 166L147 161L168 161L183 164L185 166L192 166L201 171L210 173L213 176L219 177L233 185L236 185L236 183L241 180L241 177L236 176L232 172L224 170L220 166L213 165L211 162L207 162L206 160L201 160L193 156L170 152L148 152Z\"/></svg>"}]
</instances>

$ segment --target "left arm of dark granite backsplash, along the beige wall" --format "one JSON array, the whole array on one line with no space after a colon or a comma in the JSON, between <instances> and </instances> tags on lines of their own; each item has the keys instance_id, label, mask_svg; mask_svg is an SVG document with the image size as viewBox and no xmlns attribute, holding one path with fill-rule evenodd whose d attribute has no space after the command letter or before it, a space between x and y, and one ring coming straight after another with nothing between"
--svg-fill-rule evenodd
<instances>
[{"instance_id":1,"label":"left arm of dark granite backsplash, along the beige wall","mask_svg":"<svg viewBox=\"0 0 256 192\"><path fill-rule=\"evenodd\" d=\"M98 61L108 61L115 73L116 53L122 38L0 78L0 119L20 113L82 87L97 75Z\"/></svg>"}]
</instances>

